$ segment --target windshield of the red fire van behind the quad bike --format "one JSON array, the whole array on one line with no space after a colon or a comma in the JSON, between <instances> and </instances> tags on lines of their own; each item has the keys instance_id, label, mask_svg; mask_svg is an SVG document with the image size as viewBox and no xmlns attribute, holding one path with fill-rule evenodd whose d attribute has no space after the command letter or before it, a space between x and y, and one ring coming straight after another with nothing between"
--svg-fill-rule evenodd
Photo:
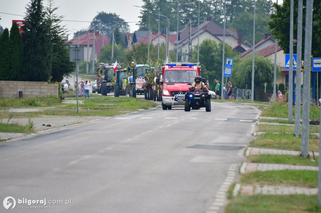
<instances>
[{"instance_id":1,"label":"windshield of the red fire van behind the quad bike","mask_svg":"<svg viewBox=\"0 0 321 213\"><path fill-rule=\"evenodd\" d=\"M193 83L196 70L166 70L164 83Z\"/></svg>"}]
</instances>

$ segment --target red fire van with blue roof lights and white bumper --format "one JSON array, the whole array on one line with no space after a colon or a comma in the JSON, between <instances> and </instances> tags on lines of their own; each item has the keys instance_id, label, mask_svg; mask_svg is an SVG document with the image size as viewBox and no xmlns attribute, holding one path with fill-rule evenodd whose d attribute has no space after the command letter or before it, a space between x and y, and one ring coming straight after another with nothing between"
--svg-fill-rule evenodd
<instances>
[{"instance_id":1,"label":"red fire van with blue roof lights and white bumper","mask_svg":"<svg viewBox=\"0 0 321 213\"><path fill-rule=\"evenodd\" d=\"M172 106L185 106L185 93L189 90L189 83L194 82L196 76L201 75L199 63L169 63L162 67L162 81L156 78L156 84L162 86L162 108L171 109Z\"/></svg>"}]
</instances>

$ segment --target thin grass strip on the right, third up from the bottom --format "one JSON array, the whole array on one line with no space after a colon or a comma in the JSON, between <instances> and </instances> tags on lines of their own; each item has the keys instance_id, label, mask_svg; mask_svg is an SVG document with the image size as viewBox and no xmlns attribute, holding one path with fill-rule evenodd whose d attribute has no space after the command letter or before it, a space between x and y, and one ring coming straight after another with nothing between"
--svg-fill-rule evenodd
<instances>
[{"instance_id":1,"label":"thin grass strip on the right, third up from the bottom","mask_svg":"<svg viewBox=\"0 0 321 213\"><path fill-rule=\"evenodd\" d=\"M303 158L299 155L288 155L288 154L255 154L247 157L247 162L251 163L280 163L289 165L307 165L307 166L318 166L319 158L315 156L313 159Z\"/></svg>"}]
</instances>

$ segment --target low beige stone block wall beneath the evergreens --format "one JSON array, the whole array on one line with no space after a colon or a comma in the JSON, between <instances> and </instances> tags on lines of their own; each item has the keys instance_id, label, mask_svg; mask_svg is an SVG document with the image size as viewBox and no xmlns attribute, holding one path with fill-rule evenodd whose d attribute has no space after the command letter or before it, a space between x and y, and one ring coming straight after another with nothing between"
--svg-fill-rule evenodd
<instances>
[{"instance_id":1,"label":"low beige stone block wall beneath the evergreens","mask_svg":"<svg viewBox=\"0 0 321 213\"><path fill-rule=\"evenodd\" d=\"M48 82L0 81L0 98L19 98L19 91L22 91L23 98L58 96L58 85Z\"/></svg>"}]
</instances>

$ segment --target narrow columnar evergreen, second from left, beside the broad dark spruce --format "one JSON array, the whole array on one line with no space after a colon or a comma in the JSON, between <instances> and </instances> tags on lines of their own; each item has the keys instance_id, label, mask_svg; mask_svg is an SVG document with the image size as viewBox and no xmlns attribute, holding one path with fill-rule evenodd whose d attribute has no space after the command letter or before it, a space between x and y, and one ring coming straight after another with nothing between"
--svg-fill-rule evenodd
<instances>
[{"instance_id":1,"label":"narrow columnar evergreen, second from left, beside the broad dark spruce","mask_svg":"<svg viewBox=\"0 0 321 213\"><path fill-rule=\"evenodd\" d=\"M13 22L10 29L11 42L11 74L10 81L22 80L22 62L23 62L23 43L20 35L19 27L16 22Z\"/></svg>"}]
</instances>

